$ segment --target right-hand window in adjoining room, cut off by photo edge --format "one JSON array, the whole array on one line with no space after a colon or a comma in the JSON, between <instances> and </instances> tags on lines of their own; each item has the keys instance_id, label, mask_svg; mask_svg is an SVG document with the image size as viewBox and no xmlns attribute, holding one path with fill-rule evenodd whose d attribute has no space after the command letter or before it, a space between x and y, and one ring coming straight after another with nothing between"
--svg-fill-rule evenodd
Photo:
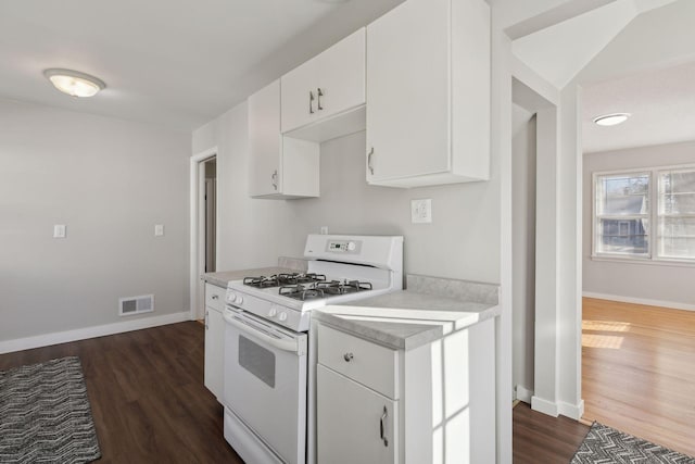
<instances>
[{"instance_id":1,"label":"right-hand window in adjoining room, cut off by photo edge","mask_svg":"<svg viewBox=\"0 0 695 464\"><path fill-rule=\"evenodd\" d=\"M695 168L659 172L658 256L695 259Z\"/></svg>"}]
</instances>

